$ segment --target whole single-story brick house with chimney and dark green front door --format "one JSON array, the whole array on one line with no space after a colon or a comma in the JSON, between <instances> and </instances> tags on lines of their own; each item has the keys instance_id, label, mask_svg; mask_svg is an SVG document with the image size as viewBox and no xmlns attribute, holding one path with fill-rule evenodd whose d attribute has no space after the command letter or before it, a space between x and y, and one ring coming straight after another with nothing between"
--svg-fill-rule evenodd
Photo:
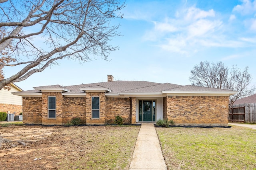
<instances>
[{"instance_id":1,"label":"whole single-story brick house with chimney and dark green front door","mask_svg":"<svg viewBox=\"0 0 256 170\"><path fill-rule=\"evenodd\" d=\"M155 122L168 118L177 125L228 125L229 96L234 91L146 81L35 87L15 92L23 99L23 122L62 125L80 117L83 124Z\"/></svg>"}]
</instances>

